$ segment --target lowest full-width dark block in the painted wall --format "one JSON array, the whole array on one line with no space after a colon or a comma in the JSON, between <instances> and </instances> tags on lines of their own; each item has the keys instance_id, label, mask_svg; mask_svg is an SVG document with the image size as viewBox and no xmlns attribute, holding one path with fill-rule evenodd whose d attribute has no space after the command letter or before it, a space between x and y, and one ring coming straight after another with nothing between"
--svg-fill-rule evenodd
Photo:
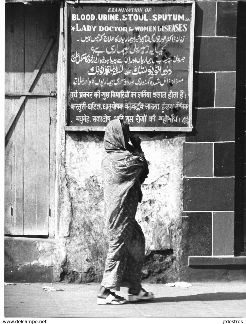
<instances>
[{"instance_id":1,"label":"lowest full-width dark block in the painted wall","mask_svg":"<svg viewBox=\"0 0 246 324\"><path fill-rule=\"evenodd\" d=\"M234 178L184 178L184 211L233 211Z\"/></svg>"}]
</instances>

